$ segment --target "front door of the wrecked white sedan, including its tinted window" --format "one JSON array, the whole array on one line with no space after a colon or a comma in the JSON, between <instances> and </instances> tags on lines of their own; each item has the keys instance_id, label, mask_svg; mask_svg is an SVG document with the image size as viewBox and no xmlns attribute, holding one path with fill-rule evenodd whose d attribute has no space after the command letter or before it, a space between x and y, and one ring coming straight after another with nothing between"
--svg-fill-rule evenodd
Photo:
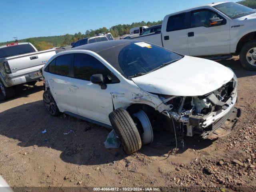
<instances>
[{"instance_id":1,"label":"front door of the wrecked white sedan, including its tinted window","mask_svg":"<svg viewBox=\"0 0 256 192\"><path fill-rule=\"evenodd\" d=\"M110 125L108 114L113 111L110 93L116 84L106 82L106 89L102 89L98 84L90 82L93 74L106 76L106 70L107 68L94 56L85 53L74 56L74 79L76 80L74 86L77 87L74 100L78 114Z\"/></svg>"}]
</instances>

